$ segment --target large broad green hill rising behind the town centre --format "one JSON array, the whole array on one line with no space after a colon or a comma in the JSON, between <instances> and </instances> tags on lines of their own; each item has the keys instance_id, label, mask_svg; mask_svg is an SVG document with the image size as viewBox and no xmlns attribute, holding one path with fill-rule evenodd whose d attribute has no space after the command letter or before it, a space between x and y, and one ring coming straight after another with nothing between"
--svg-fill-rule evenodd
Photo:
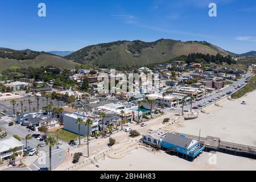
<instances>
[{"instance_id":1,"label":"large broad green hill rising behind the town centre","mask_svg":"<svg viewBox=\"0 0 256 182\"><path fill-rule=\"evenodd\" d=\"M123 40L97 44L84 47L64 58L81 64L94 64L102 68L119 68L163 63L173 57L188 55L192 52L209 53L210 55L230 54L228 51L207 42L160 39L155 42Z\"/></svg>"}]
</instances>

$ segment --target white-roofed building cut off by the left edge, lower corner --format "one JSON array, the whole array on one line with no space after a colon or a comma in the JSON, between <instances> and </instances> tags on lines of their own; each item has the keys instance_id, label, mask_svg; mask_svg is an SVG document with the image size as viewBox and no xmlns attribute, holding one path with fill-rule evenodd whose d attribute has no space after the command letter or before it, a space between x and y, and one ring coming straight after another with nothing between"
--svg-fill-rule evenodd
<instances>
[{"instance_id":1,"label":"white-roofed building cut off by the left edge, lower corner","mask_svg":"<svg viewBox=\"0 0 256 182\"><path fill-rule=\"evenodd\" d=\"M23 156L23 146L24 144L14 137L0 140L0 161L2 159L8 159L11 155L13 155L10 148L18 147L16 154Z\"/></svg>"}]
</instances>

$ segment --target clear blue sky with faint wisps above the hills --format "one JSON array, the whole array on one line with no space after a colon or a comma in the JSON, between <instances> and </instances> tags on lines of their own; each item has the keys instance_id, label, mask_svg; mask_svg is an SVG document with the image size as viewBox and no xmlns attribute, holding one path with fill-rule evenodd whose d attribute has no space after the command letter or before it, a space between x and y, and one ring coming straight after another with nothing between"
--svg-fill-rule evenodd
<instances>
[{"instance_id":1,"label":"clear blue sky with faint wisps above the hills","mask_svg":"<svg viewBox=\"0 0 256 182\"><path fill-rule=\"evenodd\" d=\"M47 16L38 16L46 3ZM209 3L217 17L209 17ZM8 0L0 6L0 47L76 51L115 40L206 40L228 51L256 51L256 1Z\"/></svg>"}]
</instances>

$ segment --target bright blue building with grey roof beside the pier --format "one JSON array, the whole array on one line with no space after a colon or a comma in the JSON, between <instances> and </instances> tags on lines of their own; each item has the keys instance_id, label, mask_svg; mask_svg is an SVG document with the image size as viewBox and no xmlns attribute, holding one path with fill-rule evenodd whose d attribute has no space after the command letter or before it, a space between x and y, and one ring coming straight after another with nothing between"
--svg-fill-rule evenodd
<instances>
[{"instance_id":1,"label":"bright blue building with grey roof beside the pier","mask_svg":"<svg viewBox=\"0 0 256 182\"><path fill-rule=\"evenodd\" d=\"M166 134L160 144L161 147L167 151L182 154L192 159L200 155L205 148L205 146L201 145L197 140L171 133Z\"/></svg>"}]
</instances>

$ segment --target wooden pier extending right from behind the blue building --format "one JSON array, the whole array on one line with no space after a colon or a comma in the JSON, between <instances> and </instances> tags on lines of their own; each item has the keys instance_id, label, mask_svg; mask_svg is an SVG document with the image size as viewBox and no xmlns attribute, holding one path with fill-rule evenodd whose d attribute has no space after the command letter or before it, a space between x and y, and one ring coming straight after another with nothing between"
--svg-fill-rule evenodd
<instances>
[{"instance_id":1,"label":"wooden pier extending right from behind the blue building","mask_svg":"<svg viewBox=\"0 0 256 182\"><path fill-rule=\"evenodd\" d=\"M175 133L175 135L185 136L194 140L199 141L200 144L205 146L205 151L218 151L226 154L243 156L246 158L256 159L256 147L253 146L246 146L243 144L231 143L222 141L220 138L217 137L199 137L195 135L187 135L183 133Z\"/></svg>"}]
</instances>

